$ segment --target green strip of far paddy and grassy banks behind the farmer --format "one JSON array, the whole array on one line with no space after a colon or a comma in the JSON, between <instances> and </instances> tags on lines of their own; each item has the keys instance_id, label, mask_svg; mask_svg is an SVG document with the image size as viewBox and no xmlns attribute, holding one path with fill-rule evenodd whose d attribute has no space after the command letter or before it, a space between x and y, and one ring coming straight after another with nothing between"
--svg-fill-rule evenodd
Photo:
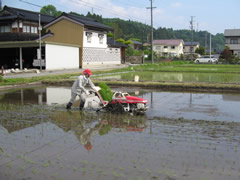
<instances>
[{"instance_id":1,"label":"green strip of far paddy and grassy banks behind the farmer","mask_svg":"<svg viewBox=\"0 0 240 180\"><path fill-rule=\"evenodd\" d=\"M157 74L163 72L166 72L164 76L162 74ZM240 90L239 65L192 64L186 61L175 61L129 66L128 68L116 70L93 71L93 74L92 80L95 83L104 81L114 86L127 85L184 90ZM183 74L184 77L182 77ZM0 84L1 86L7 86L40 82L51 85L71 86L78 75L80 75L80 73L32 78L0 79ZM140 82L134 82L135 75L140 76ZM185 76L188 77L188 80ZM174 78L178 81L174 80Z\"/></svg>"}]
</instances>

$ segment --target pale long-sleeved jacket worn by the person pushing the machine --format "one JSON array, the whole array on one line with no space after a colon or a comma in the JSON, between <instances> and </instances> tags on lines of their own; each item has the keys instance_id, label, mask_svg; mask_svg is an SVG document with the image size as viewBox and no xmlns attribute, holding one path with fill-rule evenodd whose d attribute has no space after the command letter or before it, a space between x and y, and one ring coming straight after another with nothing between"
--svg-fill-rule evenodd
<instances>
[{"instance_id":1,"label":"pale long-sleeved jacket worn by the person pushing the machine","mask_svg":"<svg viewBox=\"0 0 240 180\"><path fill-rule=\"evenodd\" d=\"M90 78L86 78L84 75L78 76L72 85L72 92L76 94L81 94L82 92L87 93L87 90L85 89L87 84L89 84L92 89L95 89L95 86Z\"/></svg>"}]
</instances>

